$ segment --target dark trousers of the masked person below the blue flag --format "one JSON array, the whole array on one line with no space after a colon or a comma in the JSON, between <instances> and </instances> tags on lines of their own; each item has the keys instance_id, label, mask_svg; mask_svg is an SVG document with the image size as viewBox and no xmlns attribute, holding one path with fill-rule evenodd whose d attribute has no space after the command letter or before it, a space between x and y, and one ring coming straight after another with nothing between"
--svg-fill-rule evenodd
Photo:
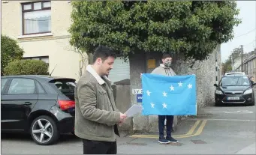
<instances>
[{"instance_id":1,"label":"dark trousers of the masked person below the blue flag","mask_svg":"<svg viewBox=\"0 0 256 155\"><path fill-rule=\"evenodd\" d=\"M166 118L166 135L168 138L171 136L173 129L173 115L158 115L158 130L159 139L164 139L164 121Z\"/></svg>"}]
</instances>

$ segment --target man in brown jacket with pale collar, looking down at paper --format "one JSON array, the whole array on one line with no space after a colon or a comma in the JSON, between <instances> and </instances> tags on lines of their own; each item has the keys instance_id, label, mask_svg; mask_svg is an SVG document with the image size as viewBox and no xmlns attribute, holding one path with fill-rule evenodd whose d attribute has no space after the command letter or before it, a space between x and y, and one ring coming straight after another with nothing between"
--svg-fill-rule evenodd
<instances>
[{"instance_id":1,"label":"man in brown jacket with pale collar, looking down at paper","mask_svg":"<svg viewBox=\"0 0 256 155\"><path fill-rule=\"evenodd\" d=\"M116 109L110 79L116 55L106 46L98 46L93 64L77 82L75 90L75 135L83 140L83 154L116 154L117 124L126 115Z\"/></svg>"}]
</instances>

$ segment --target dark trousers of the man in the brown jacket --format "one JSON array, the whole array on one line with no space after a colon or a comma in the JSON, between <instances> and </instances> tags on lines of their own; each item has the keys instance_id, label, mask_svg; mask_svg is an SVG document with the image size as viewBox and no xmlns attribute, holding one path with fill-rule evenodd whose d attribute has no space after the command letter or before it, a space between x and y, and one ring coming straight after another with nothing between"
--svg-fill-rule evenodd
<instances>
[{"instance_id":1,"label":"dark trousers of the man in the brown jacket","mask_svg":"<svg viewBox=\"0 0 256 155\"><path fill-rule=\"evenodd\" d=\"M83 139L83 154L116 154L116 142Z\"/></svg>"}]
</instances>

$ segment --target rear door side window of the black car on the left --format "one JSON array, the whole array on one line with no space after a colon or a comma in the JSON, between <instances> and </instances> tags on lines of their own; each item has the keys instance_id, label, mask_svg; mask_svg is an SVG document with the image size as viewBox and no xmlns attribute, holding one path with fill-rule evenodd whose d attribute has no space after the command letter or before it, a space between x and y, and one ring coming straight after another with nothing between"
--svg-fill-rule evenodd
<instances>
[{"instance_id":1,"label":"rear door side window of the black car on the left","mask_svg":"<svg viewBox=\"0 0 256 155\"><path fill-rule=\"evenodd\" d=\"M13 79L8 94L36 94L33 79Z\"/></svg>"}]
</instances>

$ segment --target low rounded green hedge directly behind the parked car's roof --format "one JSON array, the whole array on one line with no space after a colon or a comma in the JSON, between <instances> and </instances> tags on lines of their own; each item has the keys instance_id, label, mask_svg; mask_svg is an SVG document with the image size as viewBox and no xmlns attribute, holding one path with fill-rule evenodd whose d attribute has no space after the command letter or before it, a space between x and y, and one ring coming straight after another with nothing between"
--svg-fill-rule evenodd
<instances>
[{"instance_id":1,"label":"low rounded green hedge directly behind the parked car's roof","mask_svg":"<svg viewBox=\"0 0 256 155\"><path fill-rule=\"evenodd\" d=\"M40 60L14 60L5 67L5 76L49 75L48 65Z\"/></svg>"}]
</instances>

